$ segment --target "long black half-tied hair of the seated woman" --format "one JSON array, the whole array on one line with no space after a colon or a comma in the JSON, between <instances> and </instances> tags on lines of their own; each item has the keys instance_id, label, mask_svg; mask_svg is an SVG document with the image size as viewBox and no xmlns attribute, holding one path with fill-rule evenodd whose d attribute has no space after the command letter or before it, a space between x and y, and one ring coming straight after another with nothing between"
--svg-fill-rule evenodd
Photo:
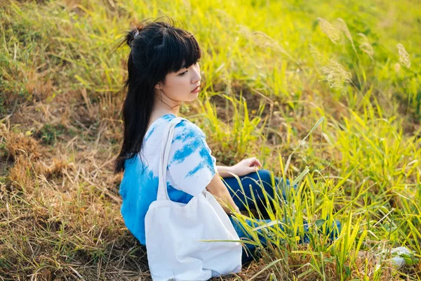
<instances>
[{"instance_id":1,"label":"long black half-tied hair of the seated woman","mask_svg":"<svg viewBox=\"0 0 421 281\"><path fill-rule=\"evenodd\" d=\"M166 74L189 67L201 58L201 48L193 34L175 27L171 18L166 19L168 22L160 18L140 22L116 46L126 43L131 51L124 83L127 95L122 107L123 144L115 159L115 173L124 171L126 159L137 155L142 148L154 107L154 86L162 83Z\"/></svg>"}]
</instances>

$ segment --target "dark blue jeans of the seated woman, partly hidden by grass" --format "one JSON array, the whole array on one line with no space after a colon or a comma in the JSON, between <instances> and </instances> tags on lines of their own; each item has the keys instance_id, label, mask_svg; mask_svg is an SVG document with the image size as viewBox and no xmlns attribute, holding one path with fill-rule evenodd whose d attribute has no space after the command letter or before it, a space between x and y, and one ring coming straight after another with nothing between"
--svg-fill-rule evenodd
<instances>
[{"instance_id":1,"label":"dark blue jeans of the seated woman, partly hidden by grass","mask_svg":"<svg viewBox=\"0 0 421 281\"><path fill-rule=\"evenodd\" d=\"M283 184L283 179L279 179L278 177L274 177L275 185L274 188L272 188L272 181L270 178L270 172L268 170L262 169L258 172L253 172L250 174L247 174L246 176L240 176L241 185L243 186L243 190L241 190L241 186L239 185L239 182L235 177L227 177L224 178L224 183L227 186L227 189L229 190L229 194L231 195L232 199L234 200L234 203L239 207L240 211L246 211L247 210L247 204L250 209L259 209L260 213L262 214L263 218L267 217L267 211L266 208L266 200L264 192L266 193L269 204L272 205L272 209L274 208L272 199L276 196L275 192L277 192L279 195L282 194L283 200L286 200L287 198L287 191L284 188L290 188L290 182L286 180L286 183ZM260 181L261 180L261 181ZM256 183L256 181L258 183ZM280 183L281 181L281 183ZM251 188L250 188L251 185ZM263 186L263 188L261 187ZM281 188L281 190L279 190ZM297 188L297 185L294 185L294 189ZM250 190L251 189L251 190ZM253 192L253 195L252 195ZM253 196L255 197L255 201L253 200ZM265 208L266 207L266 208ZM244 230L234 219L232 216L229 216L229 219L232 222L232 225L234 226L234 229L236 230L236 233L239 235L240 238L248 238L252 240L252 237L246 233L246 230ZM265 221L265 223L269 223L270 219L260 219L257 220L260 224ZM251 227L257 227L256 223L252 221L246 221L248 223L248 226ZM304 229L305 232L308 230L307 222L304 221ZM336 226L338 227L338 230L340 230L340 223L339 221L335 221ZM281 226L281 229L282 226ZM334 229L332 227L331 229ZM265 236L261 235L262 230L258 231L258 237L260 238L260 242L263 245L266 245ZM331 240L334 240L335 237L337 237L338 233L333 230L329 232ZM309 242L309 237L307 234L302 235L300 242ZM243 247L243 256L242 261L243 264L247 263L249 261L253 261L253 256L256 256L256 247L253 244L245 244L246 249Z\"/></svg>"}]
</instances>

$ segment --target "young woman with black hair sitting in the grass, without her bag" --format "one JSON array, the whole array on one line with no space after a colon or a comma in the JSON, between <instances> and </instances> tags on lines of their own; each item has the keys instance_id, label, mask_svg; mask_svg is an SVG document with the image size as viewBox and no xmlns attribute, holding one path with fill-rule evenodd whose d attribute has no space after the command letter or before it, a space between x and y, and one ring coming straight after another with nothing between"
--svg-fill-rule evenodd
<instances>
[{"instance_id":1,"label":"young woman with black hair sitting in the grass, without her bag","mask_svg":"<svg viewBox=\"0 0 421 281\"><path fill-rule=\"evenodd\" d=\"M199 60L201 48L194 36L173 22L142 22L124 41L131 48L128 55L128 78L123 103L124 136L115 171L123 171L120 195L121 214L128 230L145 244L145 214L156 200L159 153L163 129L179 115L180 105L197 98L201 90ZM121 44L120 44L121 46ZM175 126L168 161L168 196L172 201L187 203L204 188L217 198L227 214L231 205L236 211L246 210L251 201L250 185L255 198L262 192L274 197L269 171L258 170L258 159L243 159L234 166L217 166L201 129L187 120ZM246 190L243 194L233 173ZM222 181L222 178L224 181ZM255 181L262 180L265 190ZM279 182L275 178L276 185ZM260 200L258 200L260 201ZM257 202L265 214L265 207ZM231 221L239 237L243 229ZM253 259L253 246L243 251L243 263Z\"/></svg>"}]
</instances>

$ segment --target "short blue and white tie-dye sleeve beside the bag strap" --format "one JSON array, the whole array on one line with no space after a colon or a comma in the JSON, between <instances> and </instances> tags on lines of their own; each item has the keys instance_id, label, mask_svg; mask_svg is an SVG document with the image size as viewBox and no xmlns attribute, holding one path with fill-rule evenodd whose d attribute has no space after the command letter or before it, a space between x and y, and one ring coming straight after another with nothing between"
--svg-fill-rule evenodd
<instances>
[{"instance_id":1,"label":"short blue and white tie-dye sleeve beside the bag strap","mask_svg":"<svg viewBox=\"0 0 421 281\"><path fill-rule=\"evenodd\" d=\"M206 136L198 126L188 120L175 126L167 171L174 188L199 195L215 176L215 162Z\"/></svg>"}]
</instances>

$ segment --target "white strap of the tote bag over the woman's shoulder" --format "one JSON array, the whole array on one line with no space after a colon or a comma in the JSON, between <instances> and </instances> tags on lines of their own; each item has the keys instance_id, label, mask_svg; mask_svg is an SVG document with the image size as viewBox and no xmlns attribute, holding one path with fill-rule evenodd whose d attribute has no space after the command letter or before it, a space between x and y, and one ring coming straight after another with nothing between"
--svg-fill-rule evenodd
<instances>
[{"instance_id":1,"label":"white strap of the tote bag over the woman's shoulder","mask_svg":"<svg viewBox=\"0 0 421 281\"><path fill-rule=\"evenodd\" d=\"M168 157L170 155L171 143L173 141L175 125L180 123L183 119L182 117L175 117L171 119L170 122L163 129L162 133L162 144L161 144L161 154L159 157L159 185L158 185L158 194L156 195L156 200L170 200L168 197L167 184L166 184L166 171L168 166Z\"/></svg>"}]
</instances>

